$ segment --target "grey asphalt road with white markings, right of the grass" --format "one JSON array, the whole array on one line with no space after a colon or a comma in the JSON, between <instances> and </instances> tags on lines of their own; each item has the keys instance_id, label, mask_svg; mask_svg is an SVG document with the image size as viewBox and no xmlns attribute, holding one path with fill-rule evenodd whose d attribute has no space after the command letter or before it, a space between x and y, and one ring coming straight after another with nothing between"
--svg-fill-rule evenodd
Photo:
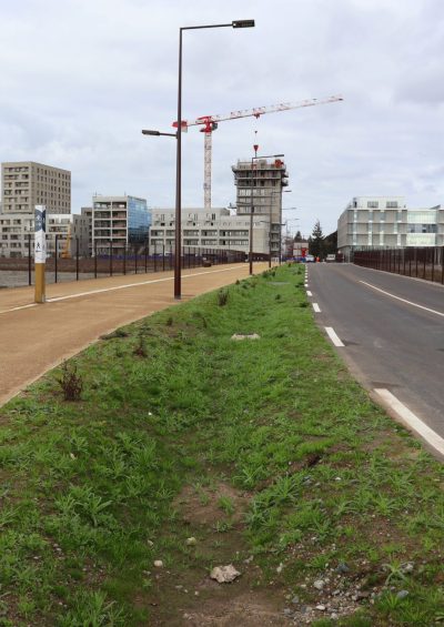
<instances>
[{"instance_id":1,"label":"grey asphalt road with white markings, right of the grass","mask_svg":"<svg viewBox=\"0 0 444 627\"><path fill-rule=\"evenodd\" d=\"M359 381L444 437L444 286L352 264L310 264L307 276L316 321Z\"/></svg>"}]
</instances>

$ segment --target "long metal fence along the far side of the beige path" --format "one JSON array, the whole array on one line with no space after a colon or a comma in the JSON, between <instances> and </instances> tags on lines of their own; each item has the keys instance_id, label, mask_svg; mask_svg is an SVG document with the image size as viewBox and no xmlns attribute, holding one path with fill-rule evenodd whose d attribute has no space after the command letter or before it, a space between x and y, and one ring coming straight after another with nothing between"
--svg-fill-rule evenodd
<instances>
[{"instance_id":1,"label":"long metal fence along the far side of the beige path","mask_svg":"<svg viewBox=\"0 0 444 627\"><path fill-rule=\"evenodd\" d=\"M94 246L93 255L84 257L79 254L79 241L73 240L69 255L59 246L56 239L56 252L48 256L46 263L47 282L79 281L81 279L98 279L118 274L142 274L165 272L174 269L174 249L165 245L118 244L110 242L109 246L100 250ZM28 241L27 257L0 259L0 271L12 271L22 276L20 284L32 285L34 260L31 239ZM220 265L245 262L245 253L235 250L219 250L198 246L182 246L182 269ZM28 281L24 280L27 275Z\"/></svg>"}]
</instances>

